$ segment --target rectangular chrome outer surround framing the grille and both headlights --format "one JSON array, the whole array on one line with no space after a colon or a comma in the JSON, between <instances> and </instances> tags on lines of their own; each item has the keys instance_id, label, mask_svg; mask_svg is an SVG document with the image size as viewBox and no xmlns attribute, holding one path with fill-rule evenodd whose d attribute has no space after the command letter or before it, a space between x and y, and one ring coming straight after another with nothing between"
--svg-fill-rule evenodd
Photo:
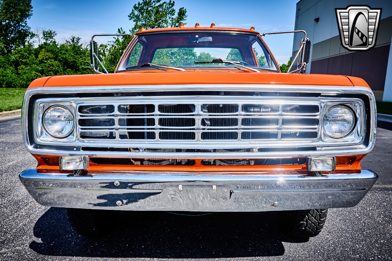
<instances>
[{"instance_id":1,"label":"rectangular chrome outer surround framing the grille and both headlights","mask_svg":"<svg viewBox=\"0 0 392 261\"><path fill-rule=\"evenodd\" d=\"M358 146L357 148L346 149L342 146L334 146L328 148L328 150L324 150L327 144L323 143L321 146L316 146L317 151L305 151L305 152L287 152L282 154L281 152L256 152L256 153L219 153L219 155L212 153L203 154L197 153L192 155L178 155L179 153L145 153L140 154L140 152L105 152L105 151L81 151L80 147L75 148L77 151L69 151L62 150L60 148L56 148L56 150L49 149L39 149L33 148L29 143L27 136L27 104L29 104L29 100L32 95L35 94L60 94L60 93L89 93L89 92L97 92L105 93L105 92L130 92L130 91L156 91L156 90L164 90L164 91L275 91L275 92L304 92L304 93L325 93L328 95L337 95L337 94L364 94L367 95L370 100L370 111L373 111L370 120L370 142L366 148ZM204 99L205 97L198 97L199 99ZM258 97L255 97L257 99ZM259 97L260 98L260 97ZM94 98L96 100L100 100L100 98ZM118 97L121 99L121 97ZM176 99L181 100L181 97L176 97ZM185 98L184 98L185 99ZM222 97L221 99L227 99L227 97ZM325 98L327 99L327 98ZM45 99L46 100L46 99ZM56 98L48 99L48 101L55 101ZM146 102L149 100L149 97L143 97L143 100ZM331 98L333 100L333 98ZM296 86L296 85L258 85L258 84L209 84L209 85L160 85L160 86L77 86L77 87L45 87L45 88L31 88L28 89L25 93L24 97L24 106L22 109L22 131L25 139L25 146L27 150L32 154L41 154L41 155L88 155L88 156L100 156L100 157L149 157L149 158L261 158L261 157L307 157L307 156L338 156L338 155L361 155L366 154L372 150L375 141L376 135L376 102L374 99L374 95L369 88L358 87L358 86ZM345 145L350 145L349 142L345 142ZM83 144L86 146L87 144ZM198 144L200 145L200 144ZM337 145L330 144L330 145ZM352 145L352 143L351 143ZM64 144L63 144L64 146ZM82 144L80 144L82 146ZM88 145L87 145L88 146ZM110 143L102 144L105 147L132 147L131 145L127 146L119 146L119 144L114 144L112 141ZM185 146L185 145L183 145ZM276 147L276 144L263 144L263 147ZM280 144L279 144L280 146ZM304 144L281 144L281 147L304 147L304 146L315 146L313 143ZM162 148L162 144L153 144L151 141L140 142L140 151L143 151L143 148ZM200 146L193 146L194 148L200 148ZM221 142L219 144L214 144L214 148L233 148L233 145L228 142ZM260 147L258 146L258 142L250 142L250 144L236 144L237 148L249 148L249 147ZM165 144L165 148L178 148L178 144ZM185 148L192 148L190 144L186 144Z\"/></svg>"}]
</instances>

